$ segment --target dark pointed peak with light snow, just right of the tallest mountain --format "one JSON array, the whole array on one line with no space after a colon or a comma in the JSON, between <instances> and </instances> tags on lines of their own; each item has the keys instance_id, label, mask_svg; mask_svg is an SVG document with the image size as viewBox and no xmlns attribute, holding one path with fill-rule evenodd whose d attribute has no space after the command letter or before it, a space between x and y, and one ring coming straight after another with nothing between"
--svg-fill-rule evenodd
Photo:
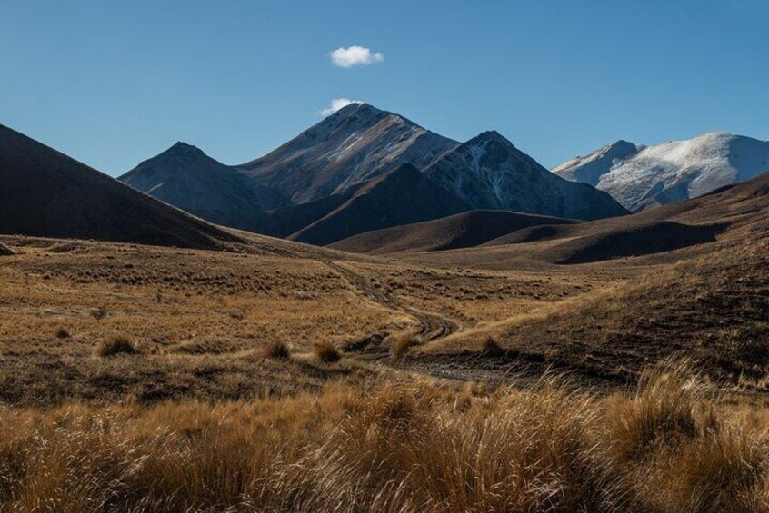
<instances>
[{"instance_id":1,"label":"dark pointed peak with light snow, just right of the tallest mountain","mask_svg":"<svg viewBox=\"0 0 769 513\"><path fill-rule=\"evenodd\" d=\"M424 173L472 209L502 209L574 219L627 211L605 192L550 173L496 132L481 133Z\"/></svg>"}]
</instances>

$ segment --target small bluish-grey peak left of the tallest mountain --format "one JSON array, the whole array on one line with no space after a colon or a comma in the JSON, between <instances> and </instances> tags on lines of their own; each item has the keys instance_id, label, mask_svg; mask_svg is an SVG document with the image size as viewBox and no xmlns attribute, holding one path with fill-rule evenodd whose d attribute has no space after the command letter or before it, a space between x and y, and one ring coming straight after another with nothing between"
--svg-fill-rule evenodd
<instances>
[{"instance_id":1,"label":"small bluish-grey peak left of the tallest mountain","mask_svg":"<svg viewBox=\"0 0 769 513\"><path fill-rule=\"evenodd\" d=\"M185 143L175 143L118 180L227 226L240 227L255 212L285 204L279 194Z\"/></svg>"}]
</instances>

